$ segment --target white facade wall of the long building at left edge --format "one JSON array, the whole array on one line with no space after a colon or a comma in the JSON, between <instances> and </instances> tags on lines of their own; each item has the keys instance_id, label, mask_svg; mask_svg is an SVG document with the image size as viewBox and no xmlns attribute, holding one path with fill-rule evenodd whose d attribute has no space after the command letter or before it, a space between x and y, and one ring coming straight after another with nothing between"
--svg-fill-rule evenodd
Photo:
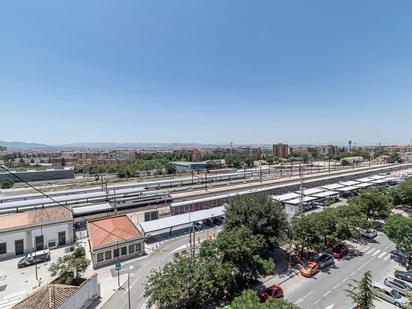
<instances>
[{"instance_id":1,"label":"white facade wall of the long building at left edge","mask_svg":"<svg viewBox=\"0 0 412 309\"><path fill-rule=\"evenodd\" d=\"M66 244L72 243L73 238L73 224L72 222L63 222L52 225L45 225L42 228L44 236L44 245L47 248L49 241L58 241L58 233L66 232ZM14 230L0 233L0 243L7 244L7 253L0 255L0 260L16 256L15 241L23 239L24 254L32 252L35 248L35 237L42 234L40 227L27 227L24 230Z\"/></svg>"}]
</instances>

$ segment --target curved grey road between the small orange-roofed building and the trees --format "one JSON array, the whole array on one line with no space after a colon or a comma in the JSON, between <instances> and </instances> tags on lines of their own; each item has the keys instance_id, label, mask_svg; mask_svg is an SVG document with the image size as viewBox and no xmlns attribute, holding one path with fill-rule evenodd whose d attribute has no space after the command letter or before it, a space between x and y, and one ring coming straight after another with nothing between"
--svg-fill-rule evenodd
<instances>
[{"instance_id":1,"label":"curved grey road between the small orange-roofed building and the trees","mask_svg":"<svg viewBox=\"0 0 412 309\"><path fill-rule=\"evenodd\" d=\"M217 234L219 230L220 228L212 228L209 230L196 232L196 240L198 238L204 240L208 238L209 235ZM131 308L145 308L145 298L143 297L143 293L144 283L147 276L150 275L153 269L162 268L167 262L172 261L172 252L186 244L188 244L188 235L181 238L168 240L160 247L156 248L148 258L127 264L128 267L133 266L133 271L131 271L132 278L130 279ZM127 280L123 279L122 283L122 288L117 291L105 304L103 304L102 308L129 308Z\"/></svg>"}]
</instances>

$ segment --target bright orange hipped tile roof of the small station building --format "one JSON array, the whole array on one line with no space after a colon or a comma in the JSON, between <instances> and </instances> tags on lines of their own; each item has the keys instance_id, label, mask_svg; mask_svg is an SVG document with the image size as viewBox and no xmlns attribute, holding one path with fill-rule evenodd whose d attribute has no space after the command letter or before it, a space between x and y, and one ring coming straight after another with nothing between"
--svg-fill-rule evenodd
<instances>
[{"instance_id":1,"label":"bright orange hipped tile roof of the small station building","mask_svg":"<svg viewBox=\"0 0 412 309\"><path fill-rule=\"evenodd\" d=\"M87 230L92 249L116 241L142 236L126 215L93 220L87 223Z\"/></svg>"}]
</instances>

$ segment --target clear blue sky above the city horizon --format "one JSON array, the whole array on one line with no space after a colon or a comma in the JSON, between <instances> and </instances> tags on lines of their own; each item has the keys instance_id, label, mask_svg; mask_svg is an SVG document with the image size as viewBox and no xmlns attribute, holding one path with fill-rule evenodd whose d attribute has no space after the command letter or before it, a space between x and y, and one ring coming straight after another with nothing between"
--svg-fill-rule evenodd
<instances>
[{"instance_id":1,"label":"clear blue sky above the city horizon","mask_svg":"<svg viewBox=\"0 0 412 309\"><path fill-rule=\"evenodd\" d=\"M7 1L0 140L409 143L412 2Z\"/></svg>"}]
</instances>

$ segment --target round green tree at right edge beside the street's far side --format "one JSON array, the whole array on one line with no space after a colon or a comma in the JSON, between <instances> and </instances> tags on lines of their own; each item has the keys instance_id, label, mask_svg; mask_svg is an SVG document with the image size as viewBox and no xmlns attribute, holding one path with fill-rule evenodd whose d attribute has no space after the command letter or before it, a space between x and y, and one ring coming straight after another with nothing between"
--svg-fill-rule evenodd
<instances>
[{"instance_id":1,"label":"round green tree at right edge beside the street's far side","mask_svg":"<svg viewBox=\"0 0 412 309\"><path fill-rule=\"evenodd\" d=\"M412 251L412 217L390 216L384 225L385 234L405 251Z\"/></svg>"}]
</instances>

